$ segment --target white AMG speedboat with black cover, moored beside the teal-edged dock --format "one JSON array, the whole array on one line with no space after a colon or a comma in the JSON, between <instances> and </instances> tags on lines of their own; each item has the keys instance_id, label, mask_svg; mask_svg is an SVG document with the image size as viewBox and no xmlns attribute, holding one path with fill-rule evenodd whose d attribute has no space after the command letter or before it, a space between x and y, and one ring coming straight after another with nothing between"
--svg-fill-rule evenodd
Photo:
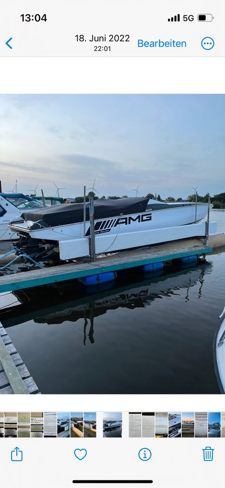
<instances>
[{"instance_id":1,"label":"white AMG speedboat with black cover, moored beside the teal-edged dock","mask_svg":"<svg viewBox=\"0 0 225 488\"><path fill-rule=\"evenodd\" d=\"M212 206L212 205L211 205ZM94 201L94 233L97 254L150 245L149 232L197 222L207 214L208 204L164 203L147 198L99 199ZM38 256L54 249L59 259L89 255L89 205L72 203L23 212L10 229L21 237L21 249ZM147 232L146 232L147 231ZM85 235L84 235L85 234ZM158 241L160 242L160 240Z\"/></svg>"}]
</instances>

